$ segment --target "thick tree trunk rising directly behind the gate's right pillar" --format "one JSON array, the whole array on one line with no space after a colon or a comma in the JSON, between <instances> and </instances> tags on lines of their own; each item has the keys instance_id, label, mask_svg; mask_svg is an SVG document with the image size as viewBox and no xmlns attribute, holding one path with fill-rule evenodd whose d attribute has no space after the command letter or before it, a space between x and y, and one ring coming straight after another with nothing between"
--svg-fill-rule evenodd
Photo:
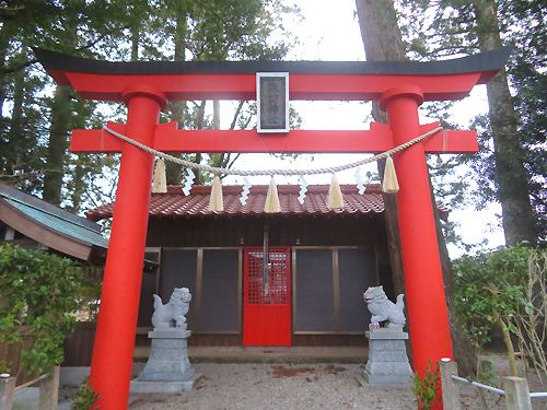
<instances>
[{"instance_id":1,"label":"thick tree trunk rising directly behind the gate's right pillar","mask_svg":"<svg viewBox=\"0 0 547 410\"><path fill-rule=\"evenodd\" d=\"M407 60L405 44L397 25L397 14L392 0L356 0L363 39L366 60ZM373 104L372 115L374 120L386 122L387 118L377 104ZM383 178L384 164L379 164L379 174ZM394 288L397 293L404 290L405 277L400 250L400 238L398 231L397 203L395 196L383 195L385 203L385 219L387 229L387 242L389 249L389 262L392 266L392 277ZM433 199L433 204L435 203ZM433 207L437 211L437 208ZM438 218L437 223L439 224ZM440 234L439 234L440 233ZM476 370L477 360L475 351L469 342L458 331L455 323L455 314L452 305L452 272L450 258L445 248L444 238L438 226L438 243L441 255L443 279L445 283L445 294L447 301L449 318L451 324L452 343L454 356L464 374L472 374Z\"/></svg>"}]
</instances>

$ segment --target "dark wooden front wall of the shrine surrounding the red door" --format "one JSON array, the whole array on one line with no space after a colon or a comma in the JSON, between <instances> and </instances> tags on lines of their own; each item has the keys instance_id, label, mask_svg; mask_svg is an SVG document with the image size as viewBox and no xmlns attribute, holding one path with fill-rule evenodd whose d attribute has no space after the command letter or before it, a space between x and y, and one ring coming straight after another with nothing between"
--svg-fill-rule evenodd
<instances>
[{"instance_id":1,"label":"dark wooden front wall of the shrine surrounding the red door","mask_svg":"<svg viewBox=\"0 0 547 410\"><path fill-rule=\"evenodd\" d=\"M339 288L335 289L335 293L339 294L340 297L335 297L336 301L333 301L333 305L335 306L334 325L331 324L333 326L329 326L328 329L325 328L324 331L312 331L314 329L310 330L307 328L300 329L300 321L296 321L299 315L293 311L293 344L362 344L364 339L361 340L361 336L356 333L364 331L364 321L369 313L364 304L361 304L360 296L359 301L350 302L347 300L348 297L345 296L347 293L347 290L345 290L347 288L345 280L350 280L352 283L354 280L358 280L359 283L356 285L361 289L366 285L376 284L379 278L382 278L382 283L387 294L391 295L393 293L383 214L350 216L333 214L322 218L312 218L310 215L274 215L267 218L264 215L246 218L226 218L226 215L220 218L208 215L190 219L152 218L149 222L147 246L149 250L155 248L155 251L160 255L161 270L158 277L155 292L151 292L153 280L150 280L150 289L148 289L149 295L141 294L139 326L150 326L150 315L152 313L151 306L142 308L142 298L147 298L146 303L150 304L151 293L158 293L162 296L163 301L166 302L173 286L185 285L193 290L194 296L193 308L190 309L191 313L188 315L188 325L193 329L195 336L191 344L241 345L241 323L236 326L236 329L230 328L230 331L218 326L213 326L211 330L203 330L206 329L203 328L201 329L203 331L200 331L201 326L199 324L202 318L198 319L198 317L203 316L203 312L208 312L209 309L212 309L211 312L218 311L214 304L210 305L209 309L203 309L205 306L202 306L202 304L209 304L205 302L203 295L201 295L203 292L205 295L207 294L207 283L200 278L207 279L207 262L214 260L213 265L216 265L217 268L213 269L213 272L218 273L229 270L231 272L230 277L241 282L242 277L237 271L242 270L242 266L240 265L240 268L237 268L237 266L231 267L230 263L226 265L222 262L222 268L220 268L218 267L219 256L217 254L225 250L236 255L237 253L242 253L242 249L245 247L261 247L265 230L268 231L269 246L290 246L294 249L294 253L291 253L291 258L294 260L299 259L296 255L300 254L321 254L324 251L325 255L330 258L329 262L326 265L328 268L327 279L330 286L333 279L338 279L335 282L339 284ZM363 261L358 260L356 265L350 261L356 258L354 254L358 249L362 249L363 251L363 255L359 254L361 255L359 258L362 257ZM208 257L209 254L214 254L214 257L211 259ZM178 258L185 256L185 258L183 258L184 260L173 259L175 256ZM339 265L337 262L336 268L334 266L335 256L336 260L340 260ZM298 263L291 267L291 270L298 272L298 276L292 277L294 281L293 285L296 284L298 278L303 278L302 276L305 273L303 266L300 269L302 271L299 271L296 265ZM240 276L238 279L237 276ZM301 292L304 292L303 297L305 297L305 291L307 291L307 293L311 292L310 289L306 290L306 288L310 286L301 286ZM333 292L333 289L325 289L325 291ZM237 294L237 290L235 289L231 292L233 293L231 297L237 297L240 300L237 309L240 309L238 320L241 320L241 289L238 292ZM296 300L296 296L294 296L292 303L294 306L298 304L303 308L301 300ZM146 311L148 311L148 313ZM230 312L232 311L233 308L230 309ZM318 312L321 309L318 309ZM326 312L328 311L326 308L323 311L319 312L323 316L326 316L326 313L333 315L333 313ZM357 323L357 319L353 318L351 319L354 321L353 323L346 318L347 314L351 316L357 315L362 320L359 319L360 321ZM315 326L314 324L312 325ZM223 331L216 333L216 330ZM138 343L147 343L143 338L138 339Z\"/></svg>"}]
</instances>

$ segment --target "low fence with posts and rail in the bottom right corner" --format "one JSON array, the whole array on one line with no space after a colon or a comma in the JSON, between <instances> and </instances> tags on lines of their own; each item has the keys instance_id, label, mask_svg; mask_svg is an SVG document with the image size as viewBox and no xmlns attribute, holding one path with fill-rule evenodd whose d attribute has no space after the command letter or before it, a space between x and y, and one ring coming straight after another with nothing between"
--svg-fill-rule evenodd
<instances>
[{"instance_id":1,"label":"low fence with posts and rail in the bottom right corner","mask_svg":"<svg viewBox=\"0 0 547 410\"><path fill-rule=\"evenodd\" d=\"M457 375L457 364L450 359L439 362L441 384L443 390L444 410L461 410L462 398L459 387L462 384L470 385L499 396L505 397L508 410L532 410L532 399L547 397L547 393L529 393L528 382L522 377L503 377L503 389L472 382Z\"/></svg>"}]
</instances>

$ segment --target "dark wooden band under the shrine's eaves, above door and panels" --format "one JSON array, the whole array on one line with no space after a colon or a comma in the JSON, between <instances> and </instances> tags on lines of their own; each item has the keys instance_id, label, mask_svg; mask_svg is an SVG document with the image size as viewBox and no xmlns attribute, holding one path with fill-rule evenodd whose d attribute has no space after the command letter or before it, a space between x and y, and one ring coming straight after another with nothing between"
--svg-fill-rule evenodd
<instances>
[{"instance_id":1,"label":"dark wooden band under the shrine's eaves, above door and panels","mask_svg":"<svg viewBox=\"0 0 547 410\"><path fill-rule=\"evenodd\" d=\"M147 246L263 246L265 226L270 246L385 247L383 214L364 216L151 218Z\"/></svg>"}]
</instances>

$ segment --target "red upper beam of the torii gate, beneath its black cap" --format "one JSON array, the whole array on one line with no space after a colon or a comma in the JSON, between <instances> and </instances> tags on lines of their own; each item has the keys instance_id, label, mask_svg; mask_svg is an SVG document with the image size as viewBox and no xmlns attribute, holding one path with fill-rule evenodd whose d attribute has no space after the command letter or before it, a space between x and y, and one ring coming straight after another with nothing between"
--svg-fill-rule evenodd
<instances>
[{"instance_id":1,"label":"red upper beam of the torii gate, beneath its black cap","mask_svg":"<svg viewBox=\"0 0 547 410\"><path fill-rule=\"evenodd\" d=\"M104 74L67 72L70 84L85 98L123 101L123 92L151 84L177 99L256 98L255 74ZM291 74L289 97L292 101L375 101L389 89L412 85L426 101L459 99L480 80L480 72L463 74Z\"/></svg>"}]
</instances>

